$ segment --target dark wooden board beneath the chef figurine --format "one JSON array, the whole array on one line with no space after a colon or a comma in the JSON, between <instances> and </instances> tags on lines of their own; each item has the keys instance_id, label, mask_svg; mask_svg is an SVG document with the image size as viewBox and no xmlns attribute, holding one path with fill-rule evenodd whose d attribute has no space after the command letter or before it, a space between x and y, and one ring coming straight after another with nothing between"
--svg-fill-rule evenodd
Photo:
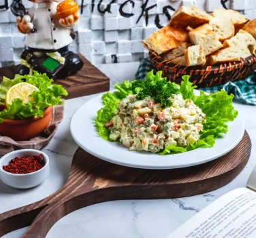
<instances>
[{"instance_id":1,"label":"dark wooden board beneath the chef figurine","mask_svg":"<svg viewBox=\"0 0 256 238\"><path fill-rule=\"evenodd\" d=\"M71 75L66 79L57 79L56 84L61 84L69 95L65 99L78 98L81 96L97 94L110 90L110 79L98 68L91 64L84 56L79 54L84 61L84 66L76 75ZM13 79L16 74L16 66L0 68L0 82L3 76Z\"/></svg>"}]
</instances>

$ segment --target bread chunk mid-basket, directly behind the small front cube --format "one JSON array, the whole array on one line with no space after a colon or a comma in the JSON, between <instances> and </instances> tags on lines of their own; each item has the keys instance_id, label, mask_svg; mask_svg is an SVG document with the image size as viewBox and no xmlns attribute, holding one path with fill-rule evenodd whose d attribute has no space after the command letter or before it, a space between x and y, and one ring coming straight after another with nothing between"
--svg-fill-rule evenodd
<instances>
[{"instance_id":1,"label":"bread chunk mid-basket, directly behind the small front cube","mask_svg":"<svg viewBox=\"0 0 256 238\"><path fill-rule=\"evenodd\" d=\"M209 24L204 24L190 31L189 38L194 45L202 45L205 56L222 47L218 34L212 31L212 26Z\"/></svg>"}]
</instances>

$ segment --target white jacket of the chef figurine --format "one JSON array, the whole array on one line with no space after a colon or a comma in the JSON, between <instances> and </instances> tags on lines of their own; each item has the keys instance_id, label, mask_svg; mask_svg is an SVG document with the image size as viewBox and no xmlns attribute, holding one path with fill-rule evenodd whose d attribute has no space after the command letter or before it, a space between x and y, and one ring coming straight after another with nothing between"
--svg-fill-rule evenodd
<instances>
[{"instance_id":1,"label":"white jacket of the chef figurine","mask_svg":"<svg viewBox=\"0 0 256 238\"><path fill-rule=\"evenodd\" d=\"M73 39L68 28L59 24L56 15L58 3L33 3L29 16L36 33L27 34L25 45L35 49L61 49L69 45Z\"/></svg>"}]
</instances>

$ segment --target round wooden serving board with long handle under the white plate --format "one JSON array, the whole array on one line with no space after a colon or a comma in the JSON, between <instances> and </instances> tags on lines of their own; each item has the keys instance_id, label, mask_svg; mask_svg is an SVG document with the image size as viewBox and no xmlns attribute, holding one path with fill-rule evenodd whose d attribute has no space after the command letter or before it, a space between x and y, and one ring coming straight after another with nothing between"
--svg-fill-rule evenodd
<instances>
[{"instance_id":1,"label":"round wooden serving board with long handle under the white plate","mask_svg":"<svg viewBox=\"0 0 256 238\"><path fill-rule=\"evenodd\" d=\"M78 148L65 186L45 199L0 214L0 237L29 226L22 237L42 238L63 216L88 205L121 199L189 197L219 189L245 167L251 154L247 132L219 159L175 170L142 170L97 159Z\"/></svg>"}]
</instances>

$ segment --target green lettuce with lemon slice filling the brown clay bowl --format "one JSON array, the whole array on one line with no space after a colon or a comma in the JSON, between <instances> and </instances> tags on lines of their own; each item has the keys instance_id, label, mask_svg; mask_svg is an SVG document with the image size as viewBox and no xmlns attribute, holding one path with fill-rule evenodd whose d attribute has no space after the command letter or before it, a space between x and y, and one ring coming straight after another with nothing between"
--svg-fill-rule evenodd
<instances>
[{"instance_id":1,"label":"green lettuce with lemon slice filling the brown clay bowl","mask_svg":"<svg viewBox=\"0 0 256 238\"><path fill-rule=\"evenodd\" d=\"M19 120L27 117L44 117L49 106L63 104L61 96L67 91L52 84L46 74L34 71L33 75L16 75L14 79L3 77L0 84L0 123L3 119Z\"/></svg>"}]
</instances>

